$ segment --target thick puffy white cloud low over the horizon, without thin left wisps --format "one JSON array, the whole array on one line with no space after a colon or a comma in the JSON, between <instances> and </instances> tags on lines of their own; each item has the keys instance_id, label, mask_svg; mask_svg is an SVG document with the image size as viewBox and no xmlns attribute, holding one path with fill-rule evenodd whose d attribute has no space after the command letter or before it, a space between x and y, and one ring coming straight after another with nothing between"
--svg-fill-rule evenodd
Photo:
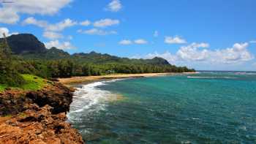
<instances>
[{"instance_id":1,"label":"thick puffy white cloud low over the horizon, without thin left wisps","mask_svg":"<svg viewBox=\"0 0 256 144\"><path fill-rule=\"evenodd\" d=\"M250 61L254 58L249 53L248 43L236 43L232 48L222 50L208 50L207 43L192 43L191 45L181 47L176 55L184 61L208 61L221 64L236 64L243 61ZM198 49L203 48L203 49Z\"/></svg>"}]
</instances>

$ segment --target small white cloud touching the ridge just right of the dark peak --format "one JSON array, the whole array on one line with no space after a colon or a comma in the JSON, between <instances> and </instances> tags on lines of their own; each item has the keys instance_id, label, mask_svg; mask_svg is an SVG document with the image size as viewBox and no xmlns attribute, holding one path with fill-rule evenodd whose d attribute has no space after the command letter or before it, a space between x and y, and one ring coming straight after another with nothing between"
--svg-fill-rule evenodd
<instances>
[{"instance_id":1,"label":"small white cloud touching the ridge just right of the dark peak","mask_svg":"<svg viewBox=\"0 0 256 144\"><path fill-rule=\"evenodd\" d=\"M45 42L45 47L50 49L52 47L59 48L61 50L70 50L75 49L75 46L73 46L70 42L59 42L59 40L53 40L50 42Z\"/></svg>"}]
</instances>

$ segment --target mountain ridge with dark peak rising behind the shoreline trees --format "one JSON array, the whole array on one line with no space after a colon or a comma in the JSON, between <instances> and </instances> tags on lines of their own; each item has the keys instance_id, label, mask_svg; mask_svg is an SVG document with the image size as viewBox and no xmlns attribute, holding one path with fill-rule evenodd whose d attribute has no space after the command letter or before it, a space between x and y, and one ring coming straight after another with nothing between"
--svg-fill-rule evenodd
<instances>
[{"instance_id":1,"label":"mountain ridge with dark peak rising behind the shoreline trees","mask_svg":"<svg viewBox=\"0 0 256 144\"><path fill-rule=\"evenodd\" d=\"M0 39L2 41L3 39ZM153 64L153 65L168 65L168 61L164 58L153 59L131 59L120 58L118 56L110 56L108 54L96 53L75 53L69 55L69 53L58 48L45 48L45 45L40 42L37 37L32 34L15 34L7 37L7 42L12 48L12 53L22 56L26 59L44 59L44 60L56 60L68 58L79 63L94 63L94 64Z\"/></svg>"}]
</instances>

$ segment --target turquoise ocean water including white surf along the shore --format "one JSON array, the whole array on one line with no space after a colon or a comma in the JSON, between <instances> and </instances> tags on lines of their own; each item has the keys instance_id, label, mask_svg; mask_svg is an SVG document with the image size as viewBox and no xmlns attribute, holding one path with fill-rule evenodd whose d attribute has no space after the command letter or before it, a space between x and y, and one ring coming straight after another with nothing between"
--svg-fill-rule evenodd
<instances>
[{"instance_id":1,"label":"turquoise ocean water including white surf along the shore","mask_svg":"<svg viewBox=\"0 0 256 144\"><path fill-rule=\"evenodd\" d=\"M78 86L68 117L87 143L256 143L256 73Z\"/></svg>"}]
</instances>

